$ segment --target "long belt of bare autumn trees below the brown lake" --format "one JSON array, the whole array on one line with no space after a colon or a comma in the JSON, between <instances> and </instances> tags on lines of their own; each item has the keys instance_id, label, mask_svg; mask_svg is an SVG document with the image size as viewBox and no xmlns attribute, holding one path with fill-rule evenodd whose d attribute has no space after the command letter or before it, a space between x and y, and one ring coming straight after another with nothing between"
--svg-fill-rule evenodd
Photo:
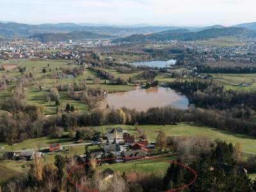
<instances>
[{"instance_id":1,"label":"long belt of bare autumn trees below the brown lake","mask_svg":"<svg viewBox=\"0 0 256 192\"><path fill-rule=\"evenodd\" d=\"M92 103L92 95L101 93L86 92L85 102ZM100 97L100 96L99 96ZM48 136L54 133L54 128L63 127L65 130L76 127L108 124L140 124L165 125L180 122L195 122L216 127L218 129L256 136L256 122L246 118L237 118L228 111L208 109L173 109L170 107L150 108L147 111L135 109L94 109L90 113L70 113L61 116L42 117L42 108L39 106L26 106L20 99L13 98L6 101L8 109L16 111L11 118L0 116L0 142L17 143L27 138ZM4 105L5 107L7 104ZM71 109L70 109L71 111ZM12 112L13 113L13 112Z\"/></svg>"}]
</instances>

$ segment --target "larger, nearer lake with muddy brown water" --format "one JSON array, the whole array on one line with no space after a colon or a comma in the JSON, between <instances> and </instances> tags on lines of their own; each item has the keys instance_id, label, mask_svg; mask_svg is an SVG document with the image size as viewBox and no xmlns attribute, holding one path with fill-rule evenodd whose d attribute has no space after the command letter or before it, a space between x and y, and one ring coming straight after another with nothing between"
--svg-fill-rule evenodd
<instances>
[{"instance_id":1,"label":"larger, nearer lake with muddy brown water","mask_svg":"<svg viewBox=\"0 0 256 192\"><path fill-rule=\"evenodd\" d=\"M152 107L173 106L174 108L187 109L188 99L171 88L148 88L132 90L131 92L108 93L104 104L114 108L135 108L146 111Z\"/></svg>"}]
</instances>

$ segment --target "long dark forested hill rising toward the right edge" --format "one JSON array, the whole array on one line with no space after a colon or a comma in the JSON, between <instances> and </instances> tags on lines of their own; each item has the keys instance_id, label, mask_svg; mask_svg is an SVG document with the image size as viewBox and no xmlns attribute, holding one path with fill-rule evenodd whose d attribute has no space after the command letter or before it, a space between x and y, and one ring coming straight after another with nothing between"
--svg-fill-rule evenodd
<instances>
[{"instance_id":1,"label":"long dark forested hill rising toward the right edge","mask_svg":"<svg viewBox=\"0 0 256 192\"><path fill-rule=\"evenodd\" d=\"M186 30L169 30L161 33L152 33L149 35L132 35L125 38L118 38L113 42L148 42L164 40L205 40L217 38L220 36L244 35L246 37L255 37L256 32L246 28L211 28L198 32L189 32Z\"/></svg>"}]
</instances>

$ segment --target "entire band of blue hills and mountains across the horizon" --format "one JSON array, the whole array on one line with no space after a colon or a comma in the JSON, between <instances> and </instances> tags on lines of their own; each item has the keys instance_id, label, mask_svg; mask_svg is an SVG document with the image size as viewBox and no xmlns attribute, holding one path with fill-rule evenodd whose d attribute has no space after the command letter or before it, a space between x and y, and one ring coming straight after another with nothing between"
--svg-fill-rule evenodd
<instances>
[{"instance_id":1,"label":"entire band of blue hills and mountains across the horizon","mask_svg":"<svg viewBox=\"0 0 256 192\"><path fill-rule=\"evenodd\" d=\"M236 29L238 28L238 29ZM212 29L210 31L207 31ZM148 24L136 25L104 25L104 24L20 24L17 22L0 21L0 37L19 38L19 37L37 37L47 42L49 40L74 40L93 39L93 38L118 38L117 41L138 41L138 40L195 40L214 38L226 35L239 35L246 33L252 34L256 31L256 22L244 23L228 27L221 25L209 26L205 28L180 28L175 26L150 26ZM82 31L84 31L82 33ZM203 31L203 32L202 32ZM74 34L76 34L74 36Z\"/></svg>"}]
</instances>

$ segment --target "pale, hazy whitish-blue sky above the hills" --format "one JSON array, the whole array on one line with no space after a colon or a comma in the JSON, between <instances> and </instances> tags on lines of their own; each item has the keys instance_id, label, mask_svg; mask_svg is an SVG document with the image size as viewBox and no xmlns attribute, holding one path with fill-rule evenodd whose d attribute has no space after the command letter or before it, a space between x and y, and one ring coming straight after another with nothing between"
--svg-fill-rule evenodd
<instances>
[{"instance_id":1,"label":"pale, hazy whitish-blue sky above the hills","mask_svg":"<svg viewBox=\"0 0 256 192\"><path fill-rule=\"evenodd\" d=\"M0 20L231 26L256 21L255 0L0 0Z\"/></svg>"}]
</instances>

